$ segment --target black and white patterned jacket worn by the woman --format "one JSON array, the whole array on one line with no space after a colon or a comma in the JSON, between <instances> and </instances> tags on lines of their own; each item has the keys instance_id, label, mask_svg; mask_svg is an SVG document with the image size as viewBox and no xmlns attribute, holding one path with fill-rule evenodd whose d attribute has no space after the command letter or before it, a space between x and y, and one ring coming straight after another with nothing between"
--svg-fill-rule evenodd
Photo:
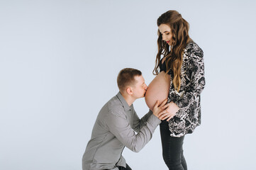
<instances>
[{"instance_id":1,"label":"black and white patterned jacket worn by the woman","mask_svg":"<svg viewBox=\"0 0 256 170\"><path fill-rule=\"evenodd\" d=\"M171 73L168 102L173 101L179 106L177 115L169 120L172 137L182 137L192 133L201 124L200 94L205 86L204 52L195 42L189 42L184 49L181 87L174 90Z\"/></svg>"}]
</instances>

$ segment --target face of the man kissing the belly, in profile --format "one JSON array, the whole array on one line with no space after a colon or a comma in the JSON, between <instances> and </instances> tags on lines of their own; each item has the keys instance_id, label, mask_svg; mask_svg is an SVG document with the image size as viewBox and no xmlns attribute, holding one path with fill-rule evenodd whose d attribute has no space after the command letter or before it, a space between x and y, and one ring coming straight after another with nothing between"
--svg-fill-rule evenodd
<instances>
[{"instance_id":1,"label":"face of the man kissing the belly, in profile","mask_svg":"<svg viewBox=\"0 0 256 170\"><path fill-rule=\"evenodd\" d=\"M132 87L134 98L143 98L146 94L148 86L145 84L143 76L135 76L135 84Z\"/></svg>"}]
</instances>

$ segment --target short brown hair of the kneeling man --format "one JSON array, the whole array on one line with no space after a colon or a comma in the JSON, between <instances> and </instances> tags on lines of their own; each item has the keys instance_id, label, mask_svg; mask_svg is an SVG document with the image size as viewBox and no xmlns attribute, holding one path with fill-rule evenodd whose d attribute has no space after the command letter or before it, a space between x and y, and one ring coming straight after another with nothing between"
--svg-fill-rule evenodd
<instances>
[{"instance_id":1,"label":"short brown hair of the kneeling man","mask_svg":"<svg viewBox=\"0 0 256 170\"><path fill-rule=\"evenodd\" d=\"M136 82L134 77L141 76L142 73L138 69L125 68L121 69L117 77L117 85L119 91L126 91L126 87L133 86Z\"/></svg>"}]
</instances>

